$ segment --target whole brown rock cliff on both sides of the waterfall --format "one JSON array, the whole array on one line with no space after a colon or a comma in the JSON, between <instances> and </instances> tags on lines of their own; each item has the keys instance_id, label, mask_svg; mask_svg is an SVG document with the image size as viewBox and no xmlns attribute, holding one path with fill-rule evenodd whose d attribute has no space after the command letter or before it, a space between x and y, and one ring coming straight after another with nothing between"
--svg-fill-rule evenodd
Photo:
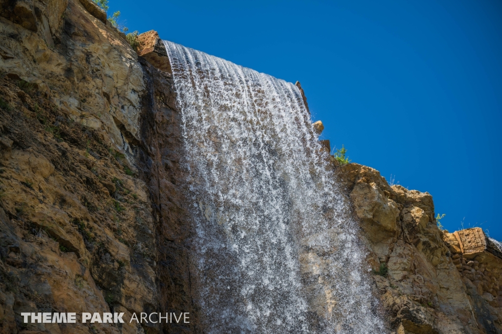
<instances>
[{"instance_id":1,"label":"whole brown rock cliff on both sides of the waterfall","mask_svg":"<svg viewBox=\"0 0 502 334\"><path fill-rule=\"evenodd\" d=\"M181 119L159 36L142 35L138 56L86 0L2 0L0 26L0 332L203 332L188 260ZM390 330L502 332L502 255L483 232L441 231L428 193L331 160ZM191 321L21 317L109 310L128 318L183 311Z\"/></svg>"}]
</instances>

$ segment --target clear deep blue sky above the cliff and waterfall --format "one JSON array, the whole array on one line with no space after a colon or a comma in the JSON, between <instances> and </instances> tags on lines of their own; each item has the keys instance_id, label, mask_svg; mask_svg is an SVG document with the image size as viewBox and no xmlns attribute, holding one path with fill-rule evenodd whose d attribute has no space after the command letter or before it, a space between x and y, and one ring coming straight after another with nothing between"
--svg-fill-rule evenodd
<instances>
[{"instance_id":1,"label":"clear deep blue sky above the cliff and waterfall","mask_svg":"<svg viewBox=\"0 0 502 334\"><path fill-rule=\"evenodd\" d=\"M323 138L502 240L502 2L110 0L131 31L299 80ZM464 218L465 217L465 218Z\"/></svg>"}]
</instances>

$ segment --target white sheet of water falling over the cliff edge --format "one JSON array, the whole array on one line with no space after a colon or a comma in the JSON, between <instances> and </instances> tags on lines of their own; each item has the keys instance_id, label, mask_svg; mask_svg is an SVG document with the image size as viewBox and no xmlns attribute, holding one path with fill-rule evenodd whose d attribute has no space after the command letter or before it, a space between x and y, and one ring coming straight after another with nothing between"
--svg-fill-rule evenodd
<instances>
[{"instance_id":1,"label":"white sheet of water falling over the cliff edge","mask_svg":"<svg viewBox=\"0 0 502 334\"><path fill-rule=\"evenodd\" d=\"M356 226L299 89L164 43L183 119L204 331L384 332Z\"/></svg>"}]
</instances>

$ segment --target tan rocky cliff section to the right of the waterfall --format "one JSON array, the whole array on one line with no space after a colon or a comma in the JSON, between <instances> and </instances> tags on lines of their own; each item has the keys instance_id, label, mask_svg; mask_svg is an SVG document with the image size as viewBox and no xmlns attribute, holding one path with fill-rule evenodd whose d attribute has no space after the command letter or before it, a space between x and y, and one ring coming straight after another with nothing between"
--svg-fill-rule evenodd
<instances>
[{"instance_id":1,"label":"tan rocky cliff section to the right of the waterfall","mask_svg":"<svg viewBox=\"0 0 502 334\"><path fill-rule=\"evenodd\" d=\"M336 166L349 196L390 330L502 332L500 258L480 229L440 231L428 193L390 186L378 171Z\"/></svg>"}]
</instances>

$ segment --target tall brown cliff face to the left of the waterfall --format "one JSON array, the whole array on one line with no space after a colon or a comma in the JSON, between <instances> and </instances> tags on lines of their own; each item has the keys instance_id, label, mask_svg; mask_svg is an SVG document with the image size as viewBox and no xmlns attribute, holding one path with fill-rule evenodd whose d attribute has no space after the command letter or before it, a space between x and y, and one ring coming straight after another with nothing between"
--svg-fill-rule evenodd
<instances>
[{"instance_id":1,"label":"tall brown cliff face to the left of the waterfall","mask_svg":"<svg viewBox=\"0 0 502 334\"><path fill-rule=\"evenodd\" d=\"M0 2L0 333L193 332L20 315L194 313L172 82L82 4Z\"/></svg>"}]
</instances>

